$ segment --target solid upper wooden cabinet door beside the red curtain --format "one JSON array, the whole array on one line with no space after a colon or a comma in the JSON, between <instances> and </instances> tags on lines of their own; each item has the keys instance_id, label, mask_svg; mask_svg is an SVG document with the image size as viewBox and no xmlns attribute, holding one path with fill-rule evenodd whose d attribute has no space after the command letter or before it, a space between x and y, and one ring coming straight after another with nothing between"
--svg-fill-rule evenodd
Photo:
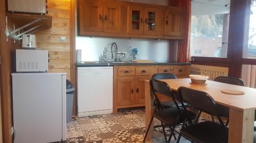
<instances>
[{"instance_id":1,"label":"solid upper wooden cabinet door beside the red curtain","mask_svg":"<svg viewBox=\"0 0 256 143\"><path fill-rule=\"evenodd\" d=\"M166 36L182 36L183 35L183 19L184 9L169 7L165 10L164 35Z\"/></svg>"}]
</instances>

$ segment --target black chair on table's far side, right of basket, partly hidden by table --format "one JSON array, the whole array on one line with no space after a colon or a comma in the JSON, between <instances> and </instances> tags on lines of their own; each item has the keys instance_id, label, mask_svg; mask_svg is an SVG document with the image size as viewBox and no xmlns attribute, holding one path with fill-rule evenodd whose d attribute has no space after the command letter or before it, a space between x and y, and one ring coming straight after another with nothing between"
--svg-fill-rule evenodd
<instances>
[{"instance_id":1,"label":"black chair on table's far side, right of basket, partly hidden by table","mask_svg":"<svg viewBox=\"0 0 256 143\"><path fill-rule=\"evenodd\" d=\"M243 80L240 78L235 78L235 77L218 76L214 79L214 81L244 86ZM229 122L229 119L228 119L229 118L229 108L226 106L220 105L220 104L217 104L217 108L220 111L220 116L227 118L227 122L226 122L226 126L227 126L228 122Z\"/></svg>"}]
</instances>

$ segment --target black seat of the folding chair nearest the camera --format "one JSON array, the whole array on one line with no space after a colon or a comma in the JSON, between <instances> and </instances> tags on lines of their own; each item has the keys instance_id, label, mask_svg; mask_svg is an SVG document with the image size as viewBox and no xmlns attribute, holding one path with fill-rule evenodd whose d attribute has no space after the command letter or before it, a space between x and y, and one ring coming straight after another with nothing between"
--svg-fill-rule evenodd
<instances>
[{"instance_id":1,"label":"black seat of the folding chair nearest the camera","mask_svg":"<svg viewBox=\"0 0 256 143\"><path fill-rule=\"evenodd\" d=\"M221 125L212 121L201 122L193 126L181 129L182 135L190 138L197 143L216 143L221 142L221 137L225 135ZM228 129L226 129L228 134ZM227 138L223 141L227 142Z\"/></svg>"}]
</instances>

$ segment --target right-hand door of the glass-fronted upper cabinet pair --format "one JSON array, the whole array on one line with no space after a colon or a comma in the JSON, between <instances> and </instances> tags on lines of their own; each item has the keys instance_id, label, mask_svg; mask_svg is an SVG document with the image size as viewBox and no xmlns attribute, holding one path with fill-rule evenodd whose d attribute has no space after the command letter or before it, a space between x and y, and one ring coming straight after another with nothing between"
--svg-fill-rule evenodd
<instances>
[{"instance_id":1,"label":"right-hand door of the glass-fronted upper cabinet pair","mask_svg":"<svg viewBox=\"0 0 256 143\"><path fill-rule=\"evenodd\" d=\"M160 24L160 14L158 8L144 9L144 34L157 35Z\"/></svg>"}]
</instances>

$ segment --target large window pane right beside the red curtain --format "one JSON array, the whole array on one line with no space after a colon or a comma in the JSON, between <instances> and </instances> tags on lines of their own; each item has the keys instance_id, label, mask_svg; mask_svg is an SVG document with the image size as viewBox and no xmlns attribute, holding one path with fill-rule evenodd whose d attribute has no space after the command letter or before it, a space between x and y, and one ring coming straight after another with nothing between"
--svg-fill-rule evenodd
<instances>
[{"instance_id":1,"label":"large window pane right beside the red curtain","mask_svg":"<svg viewBox=\"0 0 256 143\"><path fill-rule=\"evenodd\" d=\"M190 55L227 57L229 4L192 2ZM200 51L198 50L200 49Z\"/></svg>"}]
</instances>

